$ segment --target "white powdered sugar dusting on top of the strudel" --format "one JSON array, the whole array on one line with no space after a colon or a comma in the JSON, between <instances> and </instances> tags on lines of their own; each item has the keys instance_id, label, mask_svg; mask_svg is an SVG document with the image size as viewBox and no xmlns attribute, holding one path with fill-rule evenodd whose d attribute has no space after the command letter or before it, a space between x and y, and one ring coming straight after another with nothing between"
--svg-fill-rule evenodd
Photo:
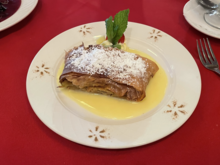
<instances>
[{"instance_id":1,"label":"white powdered sugar dusting on top of the strudel","mask_svg":"<svg viewBox=\"0 0 220 165\"><path fill-rule=\"evenodd\" d=\"M144 77L147 67L145 61L134 53L101 45L90 45L88 48L81 45L69 51L66 59L66 68L74 71L120 79Z\"/></svg>"}]
</instances>

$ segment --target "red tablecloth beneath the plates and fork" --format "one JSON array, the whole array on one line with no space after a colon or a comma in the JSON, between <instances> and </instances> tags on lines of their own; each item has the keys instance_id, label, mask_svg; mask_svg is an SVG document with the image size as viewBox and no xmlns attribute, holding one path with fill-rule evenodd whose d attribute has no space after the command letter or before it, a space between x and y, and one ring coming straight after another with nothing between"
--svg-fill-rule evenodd
<instances>
[{"instance_id":1,"label":"red tablecloth beneath the plates and fork","mask_svg":"<svg viewBox=\"0 0 220 165\"><path fill-rule=\"evenodd\" d=\"M0 32L0 164L220 164L220 76L199 61L196 39L207 36L186 22L185 3L187 0L39 0L27 18ZM104 150L66 140L45 126L29 104L29 65L59 33L104 21L127 8L129 21L168 33L192 54L202 79L199 103L182 127L152 144ZM220 62L220 40L209 39Z\"/></svg>"}]
</instances>

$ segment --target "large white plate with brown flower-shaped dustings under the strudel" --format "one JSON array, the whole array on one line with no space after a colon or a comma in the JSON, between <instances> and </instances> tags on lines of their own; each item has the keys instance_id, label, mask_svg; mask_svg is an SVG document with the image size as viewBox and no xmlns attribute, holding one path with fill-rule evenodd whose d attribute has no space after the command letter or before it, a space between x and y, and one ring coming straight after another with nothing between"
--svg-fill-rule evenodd
<instances>
[{"instance_id":1,"label":"large white plate with brown flower-shaped dustings under the strudel","mask_svg":"<svg viewBox=\"0 0 220 165\"><path fill-rule=\"evenodd\" d=\"M63 95L56 88L56 74L64 51L82 42L92 44L95 35L105 35L104 22L81 25L59 34L33 59L27 75L27 95L34 112L45 125L76 143L113 149L154 142L187 121L200 97L198 67L178 41L142 24L129 22L125 36L129 47L149 54L166 71L169 85L156 108L136 118L111 120L88 112Z\"/></svg>"}]
</instances>

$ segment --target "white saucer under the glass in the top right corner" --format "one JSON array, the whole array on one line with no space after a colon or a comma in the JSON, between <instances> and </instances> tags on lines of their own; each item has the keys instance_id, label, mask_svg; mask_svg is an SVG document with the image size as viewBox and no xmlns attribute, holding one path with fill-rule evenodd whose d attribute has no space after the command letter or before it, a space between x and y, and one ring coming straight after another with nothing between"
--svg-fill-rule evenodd
<instances>
[{"instance_id":1,"label":"white saucer under the glass in the top right corner","mask_svg":"<svg viewBox=\"0 0 220 165\"><path fill-rule=\"evenodd\" d=\"M196 0L188 1L183 8L183 15L186 21L198 31L220 39L220 30L208 25L204 19L203 14L208 10L198 5Z\"/></svg>"}]
</instances>

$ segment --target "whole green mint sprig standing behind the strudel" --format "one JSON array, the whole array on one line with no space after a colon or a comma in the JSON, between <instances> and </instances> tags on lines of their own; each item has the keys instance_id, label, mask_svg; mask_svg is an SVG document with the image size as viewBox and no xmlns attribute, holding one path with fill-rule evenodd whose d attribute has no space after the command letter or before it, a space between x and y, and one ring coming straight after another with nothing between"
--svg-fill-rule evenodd
<instances>
[{"instance_id":1,"label":"whole green mint sprig standing behind the strudel","mask_svg":"<svg viewBox=\"0 0 220 165\"><path fill-rule=\"evenodd\" d=\"M112 47L121 48L121 46L118 45L118 41L127 28L128 15L129 9L122 10L115 15L114 21L112 20L112 16L105 20L106 34L108 41L113 44Z\"/></svg>"}]
</instances>

